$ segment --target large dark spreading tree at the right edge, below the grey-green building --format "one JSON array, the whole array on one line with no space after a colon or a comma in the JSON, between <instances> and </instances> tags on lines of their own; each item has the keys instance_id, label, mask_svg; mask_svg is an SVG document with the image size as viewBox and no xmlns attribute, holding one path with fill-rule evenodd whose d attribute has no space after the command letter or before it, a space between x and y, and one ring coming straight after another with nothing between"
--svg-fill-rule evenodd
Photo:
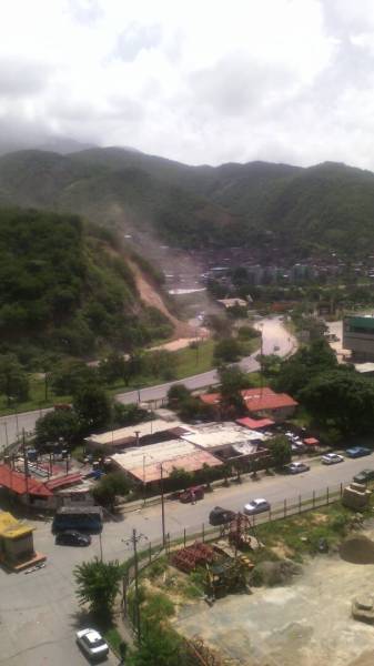
<instances>
[{"instance_id":1,"label":"large dark spreading tree at the right edge, below the grey-green building","mask_svg":"<svg viewBox=\"0 0 374 666\"><path fill-rule=\"evenodd\" d=\"M374 383L353 370L335 370L312 377L300 400L322 424L335 425L344 434L371 432Z\"/></svg>"}]
</instances>

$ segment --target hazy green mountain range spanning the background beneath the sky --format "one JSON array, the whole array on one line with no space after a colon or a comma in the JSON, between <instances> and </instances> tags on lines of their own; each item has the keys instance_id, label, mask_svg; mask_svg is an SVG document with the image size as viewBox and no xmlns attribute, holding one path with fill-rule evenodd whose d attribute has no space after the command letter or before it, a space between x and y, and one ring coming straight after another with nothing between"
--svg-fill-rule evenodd
<instances>
[{"instance_id":1,"label":"hazy green mountain range spanning the background beneath the sky","mask_svg":"<svg viewBox=\"0 0 374 666\"><path fill-rule=\"evenodd\" d=\"M325 162L190 167L132 149L0 157L0 205L73 212L179 248L281 246L361 258L374 241L374 174Z\"/></svg>"}]
</instances>

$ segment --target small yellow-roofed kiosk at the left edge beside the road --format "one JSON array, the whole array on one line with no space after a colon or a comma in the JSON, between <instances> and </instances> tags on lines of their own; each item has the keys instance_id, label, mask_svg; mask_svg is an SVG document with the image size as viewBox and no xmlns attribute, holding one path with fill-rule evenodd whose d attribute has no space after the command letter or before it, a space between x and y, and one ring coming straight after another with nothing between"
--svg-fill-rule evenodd
<instances>
[{"instance_id":1,"label":"small yellow-roofed kiosk at the left edge beside the road","mask_svg":"<svg viewBox=\"0 0 374 666\"><path fill-rule=\"evenodd\" d=\"M10 513L0 513L0 563L14 572L38 564L44 555L33 548L33 527L17 521Z\"/></svg>"}]
</instances>

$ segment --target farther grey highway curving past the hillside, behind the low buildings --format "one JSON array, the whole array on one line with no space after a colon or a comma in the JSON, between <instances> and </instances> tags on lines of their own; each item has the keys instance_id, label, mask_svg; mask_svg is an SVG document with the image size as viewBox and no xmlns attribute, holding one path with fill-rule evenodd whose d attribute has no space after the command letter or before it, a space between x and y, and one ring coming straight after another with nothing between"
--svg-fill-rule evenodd
<instances>
[{"instance_id":1,"label":"farther grey highway curving past the hillside, behind the low buildings","mask_svg":"<svg viewBox=\"0 0 374 666\"><path fill-rule=\"evenodd\" d=\"M274 346L279 346L280 349L276 353L285 356L295 347L295 340L290 336L280 319L264 319L259 322L256 326L262 330L264 354L273 353ZM251 356L242 359L240 366L246 372L253 372L257 370L259 363L255 361L255 356L259 354L259 352L260 350L257 350ZM218 375L215 370L211 370L209 372L193 375L183 380L183 383L191 390L210 386L216 382ZM139 401L139 398L142 402L160 401L166 397L168 391L173 383L174 382L166 382L165 384L141 389L140 391L128 391L127 393L117 395L117 400L124 404L135 403ZM2 416L0 418L0 450L7 446L8 443L14 442L17 440L17 433L22 433L22 428L24 428L26 432L33 432L37 420L50 411L51 410L39 410L37 412L24 412L22 414L10 414L8 416Z\"/></svg>"}]
</instances>

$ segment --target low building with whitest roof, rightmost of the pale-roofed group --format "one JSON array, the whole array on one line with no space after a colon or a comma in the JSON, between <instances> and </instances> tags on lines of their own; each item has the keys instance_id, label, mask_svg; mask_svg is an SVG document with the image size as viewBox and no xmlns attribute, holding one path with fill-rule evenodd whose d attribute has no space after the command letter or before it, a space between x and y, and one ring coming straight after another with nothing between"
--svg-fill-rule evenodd
<instances>
[{"instance_id":1,"label":"low building with whitest roof, rightmost of the pale-roofed group","mask_svg":"<svg viewBox=\"0 0 374 666\"><path fill-rule=\"evenodd\" d=\"M256 455L269 437L225 421L193 426L181 438L226 460L235 455Z\"/></svg>"}]
</instances>

